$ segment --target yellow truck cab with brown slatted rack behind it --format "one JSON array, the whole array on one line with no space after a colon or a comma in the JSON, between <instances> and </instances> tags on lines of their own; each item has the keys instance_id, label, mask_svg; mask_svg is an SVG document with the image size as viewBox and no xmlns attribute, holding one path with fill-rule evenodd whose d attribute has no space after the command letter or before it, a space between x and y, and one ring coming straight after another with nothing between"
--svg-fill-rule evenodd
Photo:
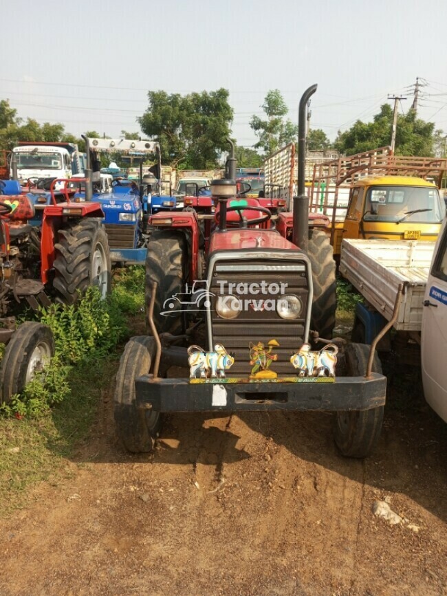
<instances>
[{"instance_id":1,"label":"yellow truck cab with brown slatted rack behind it","mask_svg":"<svg viewBox=\"0 0 447 596\"><path fill-rule=\"evenodd\" d=\"M320 168L311 210L331 219L334 255L340 255L342 239L435 241L446 206L426 177L440 182L446 167L446 159L396 156L380 148Z\"/></svg>"}]
</instances>

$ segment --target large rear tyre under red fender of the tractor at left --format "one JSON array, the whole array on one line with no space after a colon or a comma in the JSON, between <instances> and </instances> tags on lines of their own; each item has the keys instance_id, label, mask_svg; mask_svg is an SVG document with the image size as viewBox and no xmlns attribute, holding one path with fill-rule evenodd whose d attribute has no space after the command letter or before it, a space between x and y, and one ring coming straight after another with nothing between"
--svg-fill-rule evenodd
<instances>
[{"instance_id":1,"label":"large rear tyre under red fender of the tractor at left","mask_svg":"<svg viewBox=\"0 0 447 596\"><path fill-rule=\"evenodd\" d=\"M58 230L54 252L57 302L72 305L89 286L98 287L101 298L106 298L111 289L110 249L105 227L98 219L69 221Z\"/></svg>"}]
</instances>

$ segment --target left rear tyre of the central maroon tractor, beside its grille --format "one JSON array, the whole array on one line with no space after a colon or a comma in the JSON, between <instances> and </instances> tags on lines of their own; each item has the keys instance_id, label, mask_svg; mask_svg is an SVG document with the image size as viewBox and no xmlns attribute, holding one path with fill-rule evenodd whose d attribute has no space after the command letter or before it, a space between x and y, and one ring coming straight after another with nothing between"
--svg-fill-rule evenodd
<instances>
[{"instance_id":1,"label":"left rear tyre of the central maroon tractor, beside its grille","mask_svg":"<svg viewBox=\"0 0 447 596\"><path fill-rule=\"evenodd\" d=\"M149 240L146 256L146 286L144 302L146 305L146 323L149 304L152 298L151 284L157 282L157 293L153 308L153 320L158 333L184 333L184 313L179 300L171 300L175 305L168 315L162 315L164 303L169 298L184 291L186 242L184 236L168 230L155 230Z\"/></svg>"}]
</instances>

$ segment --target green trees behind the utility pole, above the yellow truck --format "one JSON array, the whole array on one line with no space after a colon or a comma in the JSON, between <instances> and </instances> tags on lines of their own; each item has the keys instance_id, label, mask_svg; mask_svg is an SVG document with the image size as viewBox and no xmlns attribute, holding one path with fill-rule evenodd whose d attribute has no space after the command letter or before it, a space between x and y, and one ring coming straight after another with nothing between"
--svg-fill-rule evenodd
<instances>
[{"instance_id":1,"label":"green trees behind the utility pole, above the yellow truck","mask_svg":"<svg viewBox=\"0 0 447 596\"><path fill-rule=\"evenodd\" d=\"M350 129L338 132L334 148L340 153L353 155L389 145L393 126L393 109L384 104L373 122L357 120ZM397 155L430 156L435 151L435 124L417 118L413 109L397 116L395 153Z\"/></svg>"}]
</instances>

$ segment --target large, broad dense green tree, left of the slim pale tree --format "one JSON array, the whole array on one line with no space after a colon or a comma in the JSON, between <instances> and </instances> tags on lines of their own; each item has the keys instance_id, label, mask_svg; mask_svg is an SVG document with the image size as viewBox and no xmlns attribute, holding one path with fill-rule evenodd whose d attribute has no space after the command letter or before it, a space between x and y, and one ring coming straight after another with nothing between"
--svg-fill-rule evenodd
<instances>
[{"instance_id":1,"label":"large, broad dense green tree, left of the slim pale tree","mask_svg":"<svg viewBox=\"0 0 447 596\"><path fill-rule=\"evenodd\" d=\"M233 111L228 91L181 96L149 91L149 107L138 118L142 131L160 143L162 162L184 168L212 168L228 149Z\"/></svg>"}]
</instances>

